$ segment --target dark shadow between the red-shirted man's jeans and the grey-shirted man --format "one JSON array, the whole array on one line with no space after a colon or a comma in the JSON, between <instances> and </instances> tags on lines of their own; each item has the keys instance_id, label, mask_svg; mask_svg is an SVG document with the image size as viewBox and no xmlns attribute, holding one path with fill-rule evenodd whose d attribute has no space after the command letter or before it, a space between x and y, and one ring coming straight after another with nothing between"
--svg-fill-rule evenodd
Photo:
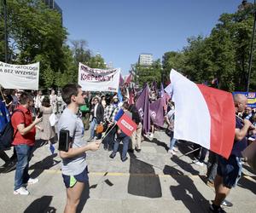
<instances>
[{"instance_id":1,"label":"dark shadow between the red-shirted man's jeans and the grey-shirted man","mask_svg":"<svg viewBox=\"0 0 256 213\"><path fill-rule=\"evenodd\" d=\"M36 178L41 175L44 170L49 170L51 167L55 166L55 164L60 164L61 160L55 160L54 158L57 156L57 153L51 154L43 160L37 162L36 164L32 164L29 167L29 170L33 170L30 175L32 178Z\"/></svg>"}]
</instances>

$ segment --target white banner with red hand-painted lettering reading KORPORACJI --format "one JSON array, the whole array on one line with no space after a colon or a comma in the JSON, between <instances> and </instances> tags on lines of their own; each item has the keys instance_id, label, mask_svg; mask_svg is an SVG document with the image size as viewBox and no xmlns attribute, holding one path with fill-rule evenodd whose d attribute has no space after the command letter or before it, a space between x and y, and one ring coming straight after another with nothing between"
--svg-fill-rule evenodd
<instances>
[{"instance_id":1,"label":"white banner with red hand-painted lettering reading KORPORACJI","mask_svg":"<svg viewBox=\"0 0 256 213\"><path fill-rule=\"evenodd\" d=\"M84 91L111 91L119 89L120 69L95 69L79 63L79 85Z\"/></svg>"}]
</instances>

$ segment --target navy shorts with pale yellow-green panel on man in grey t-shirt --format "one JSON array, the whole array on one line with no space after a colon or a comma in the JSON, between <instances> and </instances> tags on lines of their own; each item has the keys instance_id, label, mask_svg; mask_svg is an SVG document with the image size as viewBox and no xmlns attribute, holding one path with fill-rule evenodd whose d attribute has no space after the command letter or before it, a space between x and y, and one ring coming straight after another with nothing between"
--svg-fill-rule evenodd
<instances>
[{"instance_id":1,"label":"navy shorts with pale yellow-green panel on man in grey t-shirt","mask_svg":"<svg viewBox=\"0 0 256 213\"><path fill-rule=\"evenodd\" d=\"M68 187L73 187L74 185L76 185L77 181L79 182L86 182L89 181L89 177L88 177L88 169L87 166L84 169L84 171L82 171L79 175L76 176L66 176L63 175L63 181L65 183L65 186Z\"/></svg>"}]
</instances>

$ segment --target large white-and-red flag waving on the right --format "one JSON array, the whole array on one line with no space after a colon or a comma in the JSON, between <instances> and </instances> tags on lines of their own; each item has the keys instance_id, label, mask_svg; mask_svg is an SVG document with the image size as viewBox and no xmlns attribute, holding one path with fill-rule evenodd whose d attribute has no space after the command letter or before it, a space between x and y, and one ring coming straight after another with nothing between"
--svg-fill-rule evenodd
<instances>
[{"instance_id":1,"label":"large white-and-red flag waving on the right","mask_svg":"<svg viewBox=\"0 0 256 213\"><path fill-rule=\"evenodd\" d=\"M172 69L174 138L192 141L229 158L235 138L236 111L231 93L196 84Z\"/></svg>"}]
</instances>

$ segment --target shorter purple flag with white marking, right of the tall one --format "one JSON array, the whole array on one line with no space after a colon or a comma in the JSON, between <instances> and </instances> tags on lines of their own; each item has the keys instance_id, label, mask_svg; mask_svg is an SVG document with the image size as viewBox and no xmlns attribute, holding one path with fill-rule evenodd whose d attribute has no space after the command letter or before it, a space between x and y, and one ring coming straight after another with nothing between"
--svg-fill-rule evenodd
<instances>
[{"instance_id":1,"label":"shorter purple flag with white marking, right of the tall one","mask_svg":"<svg viewBox=\"0 0 256 213\"><path fill-rule=\"evenodd\" d=\"M154 103L149 104L149 114L150 118L155 125L163 126L164 125L164 105L165 97L154 101Z\"/></svg>"}]
</instances>

